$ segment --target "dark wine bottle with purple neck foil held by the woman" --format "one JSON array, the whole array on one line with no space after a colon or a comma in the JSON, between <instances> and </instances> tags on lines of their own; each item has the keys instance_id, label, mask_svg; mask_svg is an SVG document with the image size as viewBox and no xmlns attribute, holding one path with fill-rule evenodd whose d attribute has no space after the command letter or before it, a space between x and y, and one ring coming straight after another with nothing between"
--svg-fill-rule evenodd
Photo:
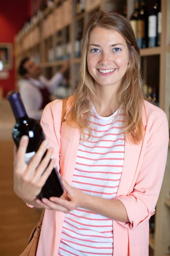
<instances>
[{"instance_id":1,"label":"dark wine bottle with purple neck foil held by the woman","mask_svg":"<svg viewBox=\"0 0 170 256\"><path fill-rule=\"evenodd\" d=\"M20 94L17 91L11 91L7 95L11 104L16 123L12 129L12 137L17 148L23 135L29 137L29 143L25 154L26 164L29 164L34 154L37 152L40 144L45 140L42 127L37 120L29 118L26 114ZM46 151L47 152L47 151ZM46 154L45 152L45 154ZM45 154L43 157L45 157ZM42 158L43 158L42 157ZM50 198L51 196L60 197L64 192L62 180L57 168L54 168L42 187L41 192L37 195L38 199Z\"/></svg>"}]
</instances>

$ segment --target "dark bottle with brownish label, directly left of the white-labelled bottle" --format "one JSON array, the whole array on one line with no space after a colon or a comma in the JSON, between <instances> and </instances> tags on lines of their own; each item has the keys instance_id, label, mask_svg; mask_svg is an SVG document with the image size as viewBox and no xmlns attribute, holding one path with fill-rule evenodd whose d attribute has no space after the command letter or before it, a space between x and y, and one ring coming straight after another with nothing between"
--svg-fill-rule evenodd
<instances>
[{"instance_id":1,"label":"dark bottle with brownish label, directly left of the white-labelled bottle","mask_svg":"<svg viewBox=\"0 0 170 256\"><path fill-rule=\"evenodd\" d=\"M145 1L141 1L140 12L137 20L137 44L139 48L147 47L148 22Z\"/></svg>"}]
</instances>

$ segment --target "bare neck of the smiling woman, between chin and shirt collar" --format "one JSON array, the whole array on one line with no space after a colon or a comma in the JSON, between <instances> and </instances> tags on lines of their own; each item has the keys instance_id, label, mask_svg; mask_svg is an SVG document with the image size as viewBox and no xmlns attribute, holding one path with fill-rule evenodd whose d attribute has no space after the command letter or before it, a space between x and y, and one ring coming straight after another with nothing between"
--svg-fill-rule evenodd
<instances>
[{"instance_id":1,"label":"bare neck of the smiling woman, between chin and shirt collar","mask_svg":"<svg viewBox=\"0 0 170 256\"><path fill-rule=\"evenodd\" d=\"M95 84L96 98L98 102L95 102L95 109L99 116L111 116L118 108L119 103L117 101L117 87L113 85L99 85Z\"/></svg>"}]
</instances>

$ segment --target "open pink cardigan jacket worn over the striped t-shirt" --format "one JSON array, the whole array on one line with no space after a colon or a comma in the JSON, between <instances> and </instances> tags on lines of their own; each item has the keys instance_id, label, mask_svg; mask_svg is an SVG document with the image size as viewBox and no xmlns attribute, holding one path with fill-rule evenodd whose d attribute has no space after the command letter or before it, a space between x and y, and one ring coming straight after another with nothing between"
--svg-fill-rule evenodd
<instances>
[{"instance_id":1,"label":"open pink cardigan jacket worn over the striped t-shirt","mask_svg":"<svg viewBox=\"0 0 170 256\"><path fill-rule=\"evenodd\" d=\"M148 102L145 102L145 108L143 141L139 145L125 142L125 160L116 198L124 204L130 223L113 221L114 256L149 254L149 218L155 212L161 189L169 136L164 111ZM54 148L61 175L71 184L80 130L63 122L60 134L61 113L61 100L49 103L43 112L41 125ZM63 212L45 210L37 256L58 255L63 220Z\"/></svg>"}]
</instances>

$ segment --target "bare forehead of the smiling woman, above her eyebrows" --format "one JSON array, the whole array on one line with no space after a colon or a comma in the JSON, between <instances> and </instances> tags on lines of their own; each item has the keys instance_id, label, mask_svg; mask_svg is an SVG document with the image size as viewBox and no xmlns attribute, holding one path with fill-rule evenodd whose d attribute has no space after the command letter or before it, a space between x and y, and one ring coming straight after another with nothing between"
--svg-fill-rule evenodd
<instances>
[{"instance_id":1,"label":"bare forehead of the smiling woman, above her eyebrows","mask_svg":"<svg viewBox=\"0 0 170 256\"><path fill-rule=\"evenodd\" d=\"M121 43L121 44L126 44L125 39L123 36L117 32L114 29L105 29L101 27L96 27L95 29L92 30L89 38L89 44L91 43L104 43L104 44L116 44L116 43Z\"/></svg>"}]
</instances>

